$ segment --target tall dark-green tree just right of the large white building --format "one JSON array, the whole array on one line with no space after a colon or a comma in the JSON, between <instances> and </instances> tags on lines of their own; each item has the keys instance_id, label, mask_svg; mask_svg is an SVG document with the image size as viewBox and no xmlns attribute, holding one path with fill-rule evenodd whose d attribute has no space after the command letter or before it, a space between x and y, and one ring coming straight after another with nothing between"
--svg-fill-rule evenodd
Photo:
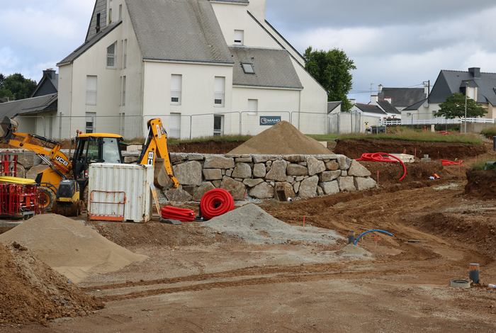
<instances>
[{"instance_id":1,"label":"tall dark-green tree just right of the large white building","mask_svg":"<svg viewBox=\"0 0 496 333\"><path fill-rule=\"evenodd\" d=\"M303 55L305 69L328 91L327 101L343 101L342 111L349 111L351 103L346 96L353 86L351 69L356 69L353 60L343 50L312 50L309 46Z\"/></svg>"}]
</instances>

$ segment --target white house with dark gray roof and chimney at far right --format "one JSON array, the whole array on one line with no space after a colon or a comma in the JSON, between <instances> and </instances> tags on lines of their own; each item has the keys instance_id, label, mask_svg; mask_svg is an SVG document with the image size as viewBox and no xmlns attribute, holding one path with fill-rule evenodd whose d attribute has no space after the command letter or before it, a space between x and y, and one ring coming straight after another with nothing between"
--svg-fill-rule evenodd
<instances>
[{"instance_id":1,"label":"white house with dark gray roof and chimney at far right","mask_svg":"<svg viewBox=\"0 0 496 333\"><path fill-rule=\"evenodd\" d=\"M496 73L480 72L479 67L468 71L441 70L429 97L405 108L402 114L414 120L432 119L439 111L439 104L453 93L473 98L487 110L485 118L496 118Z\"/></svg>"}]
</instances>

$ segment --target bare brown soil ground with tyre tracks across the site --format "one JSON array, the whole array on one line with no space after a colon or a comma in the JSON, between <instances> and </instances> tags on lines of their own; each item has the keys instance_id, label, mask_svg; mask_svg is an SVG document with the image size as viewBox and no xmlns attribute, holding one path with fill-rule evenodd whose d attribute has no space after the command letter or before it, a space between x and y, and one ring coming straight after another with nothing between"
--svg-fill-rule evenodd
<instances>
[{"instance_id":1,"label":"bare brown soil ground with tyre tracks across the site","mask_svg":"<svg viewBox=\"0 0 496 333\"><path fill-rule=\"evenodd\" d=\"M496 158L487 147L478 159ZM496 199L485 190L495 180L485 171L467 182L470 154L440 158L464 162L407 164L400 182L399 164L368 162L379 188L259 203L302 229L305 218L343 237L371 229L395 235L359 241L371 258L330 254L345 240L254 245L201 222L89 222L150 259L81 281L106 303L95 314L48 327L0 324L0 332L496 332L496 289L487 288L496 282ZM429 181L434 173L441 179ZM468 279L470 263L480 264L480 283L451 288L451 280Z\"/></svg>"}]
</instances>

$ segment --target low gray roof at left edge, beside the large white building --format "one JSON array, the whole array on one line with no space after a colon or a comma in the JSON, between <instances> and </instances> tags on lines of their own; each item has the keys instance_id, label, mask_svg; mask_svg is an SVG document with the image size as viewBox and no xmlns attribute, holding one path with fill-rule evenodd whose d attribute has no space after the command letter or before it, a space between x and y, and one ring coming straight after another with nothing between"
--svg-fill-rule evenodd
<instances>
[{"instance_id":1,"label":"low gray roof at left edge, beside the large white building","mask_svg":"<svg viewBox=\"0 0 496 333\"><path fill-rule=\"evenodd\" d=\"M47 108L50 108L50 111L57 111L57 94L0 103L0 118L47 111Z\"/></svg>"}]
</instances>

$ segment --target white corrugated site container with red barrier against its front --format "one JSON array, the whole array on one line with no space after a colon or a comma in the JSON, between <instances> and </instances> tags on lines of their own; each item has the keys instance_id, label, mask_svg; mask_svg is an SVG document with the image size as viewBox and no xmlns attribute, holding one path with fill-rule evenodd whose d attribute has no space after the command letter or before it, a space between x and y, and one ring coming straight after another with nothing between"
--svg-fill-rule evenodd
<instances>
[{"instance_id":1,"label":"white corrugated site container with red barrier against its front","mask_svg":"<svg viewBox=\"0 0 496 333\"><path fill-rule=\"evenodd\" d=\"M123 220L147 222L152 219L154 166L93 163L89 165L91 215L123 215ZM120 193L124 192L124 193ZM122 203L125 196L125 204Z\"/></svg>"}]
</instances>

